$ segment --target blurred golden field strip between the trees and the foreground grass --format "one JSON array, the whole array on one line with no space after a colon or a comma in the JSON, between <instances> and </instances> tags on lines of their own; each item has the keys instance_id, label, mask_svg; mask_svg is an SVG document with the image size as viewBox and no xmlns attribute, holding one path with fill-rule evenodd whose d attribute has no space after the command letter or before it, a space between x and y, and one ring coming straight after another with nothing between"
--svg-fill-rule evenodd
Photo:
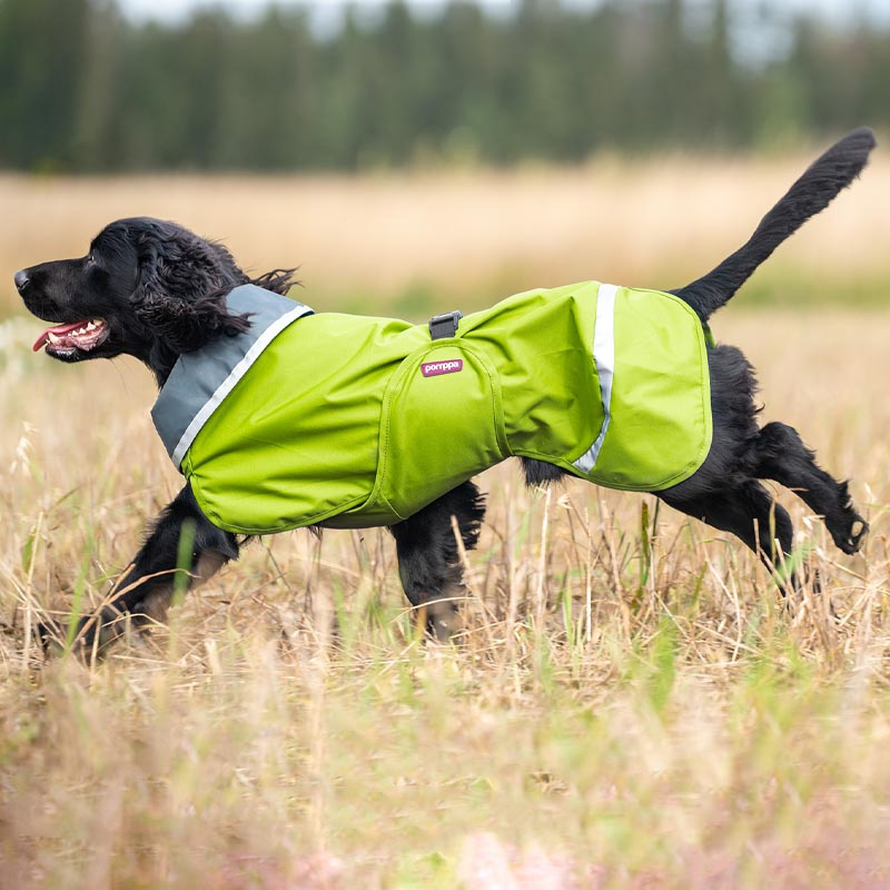
<instances>
[{"instance_id":1,"label":"blurred golden field strip between the trees and the foreground grass","mask_svg":"<svg viewBox=\"0 0 890 890\"><path fill-rule=\"evenodd\" d=\"M442 299L481 307L589 278L675 287L748 238L817 151L362 178L0 176L0 312L18 304L7 284L16 269L81 256L106 222L140 215L221 239L254 271L298 265L320 308L423 316ZM888 195L890 161L879 156L771 260L745 305L831 301L840 285L843 299L880 293Z\"/></svg>"}]
</instances>

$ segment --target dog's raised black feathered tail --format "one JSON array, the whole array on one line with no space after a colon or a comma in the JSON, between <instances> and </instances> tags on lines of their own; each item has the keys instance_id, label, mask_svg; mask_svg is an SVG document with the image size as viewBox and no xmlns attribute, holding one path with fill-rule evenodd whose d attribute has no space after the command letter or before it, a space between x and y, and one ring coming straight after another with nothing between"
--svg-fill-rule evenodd
<instances>
[{"instance_id":1,"label":"dog's raised black feathered tail","mask_svg":"<svg viewBox=\"0 0 890 890\"><path fill-rule=\"evenodd\" d=\"M775 207L760 220L743 247L708 275L671 293L689 303L702 322L708 322L785 238L811 216L824 210L834 196L859 176L868 164L872 148L874 134L868 127L844 136L791 186Z\"/></svg>"}]
</instances>

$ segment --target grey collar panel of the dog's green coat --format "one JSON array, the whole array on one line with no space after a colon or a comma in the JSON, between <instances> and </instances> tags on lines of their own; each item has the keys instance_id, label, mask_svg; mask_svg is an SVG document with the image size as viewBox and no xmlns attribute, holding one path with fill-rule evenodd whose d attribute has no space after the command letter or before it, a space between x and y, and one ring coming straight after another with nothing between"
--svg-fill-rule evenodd
<instances>
[{"instance_id":1,"label":"grey collar panel of the dog's green coat","mask_svg":"<svg viewBox=\"0 0 890 890\"><path fill-rule=\"evenodd\" d=\"M226 306L234 314L249 313L250 329L234 337L222 336L194 353L179 356L151 408L155 428L170 457L192 419L212 399L264 332L285 315L293 314L290 320L294 322L313 312L301 303L256 285L236 287L226 297ZM253 356L253 360L260 354L261 350ZM245 370L243 367L241 373Z\"/></svg>"}]
</instances>

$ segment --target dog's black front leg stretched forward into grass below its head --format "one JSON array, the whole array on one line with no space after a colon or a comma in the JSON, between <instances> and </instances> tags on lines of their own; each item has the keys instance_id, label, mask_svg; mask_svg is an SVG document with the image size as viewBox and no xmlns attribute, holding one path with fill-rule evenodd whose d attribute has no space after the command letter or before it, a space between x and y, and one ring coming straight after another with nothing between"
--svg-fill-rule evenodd
<instances>
[{"instance_id":1,"label":"dog's black front leg stretched forward into grass below its head","mask_svg":"<svg viewBox=\"0 0 890 890\"><path fill-rule=\"evenodd\" d=\"M206 581L237 557L235 535L210 523L186 485L156 521L108 604L80 621L76 645L90 657L120 636L128 622L139 627L162 621L177 591Z\"/></svg>"}]
</instances>

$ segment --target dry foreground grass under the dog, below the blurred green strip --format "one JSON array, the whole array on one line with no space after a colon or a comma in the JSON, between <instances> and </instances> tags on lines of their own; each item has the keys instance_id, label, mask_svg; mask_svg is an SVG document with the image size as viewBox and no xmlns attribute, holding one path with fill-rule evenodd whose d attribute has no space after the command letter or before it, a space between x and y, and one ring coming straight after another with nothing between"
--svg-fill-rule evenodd
<instances>
[{"instance_id":1,"label":"dry foreground grass under the dog, below the blurred green strip","mask_svg":"<svg viewBox=\"0 0 890 890\"><path fill-rule=\"evenodd\" d=\"M853 477L861 556L782 495L839 620L812 592L784 611L738 542L651 497L528 493L504 466L483 477L461 649L417 637L384 533L294 533L89 670L44 664L33 622L102 597L177 477L140 368L49 366L14 328L0 886L890 879L887 316L715 325L756 362L765 417Z\"/></svg>"}]
</instances>

